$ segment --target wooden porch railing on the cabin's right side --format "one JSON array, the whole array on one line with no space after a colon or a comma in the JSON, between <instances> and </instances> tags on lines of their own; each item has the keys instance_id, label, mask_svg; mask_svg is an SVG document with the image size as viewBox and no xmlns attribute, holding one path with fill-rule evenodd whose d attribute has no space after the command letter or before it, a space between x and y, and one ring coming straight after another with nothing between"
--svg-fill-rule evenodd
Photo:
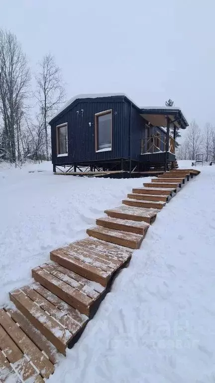
<instances>
[{"instance_id":1,"label":"wooden porch railing on the cabin's right side","mask_svg":"<svg viewBox=\"0 0 215 383\"><path fill-rule=\"evenodd\" d=\"M162 137L152 135L149 138L143 138L141 140L141 154L150 154L166 151L166 136ZM173 137L169 137L169 152L175 154L175 140Z\"/></svg>"}]
</instances>

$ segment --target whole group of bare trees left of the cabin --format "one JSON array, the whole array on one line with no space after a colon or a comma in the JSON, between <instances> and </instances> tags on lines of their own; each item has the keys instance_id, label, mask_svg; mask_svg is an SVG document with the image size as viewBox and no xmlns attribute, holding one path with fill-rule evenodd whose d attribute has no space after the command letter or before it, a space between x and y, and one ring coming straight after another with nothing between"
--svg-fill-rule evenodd
<instances>
[{"instance_id":1,"label":"whole group of bare trees left of the cabin","mask_svg":"<svg viewBox=\"0 0 215 383\"><path fill-rule=\"evenodd\" d=\"M54 57L46 54L31 73L17 37L0 29L0 159L19 164L26 158L49 160L48 121L65 96Z\"/></svg>"}]
</instances>

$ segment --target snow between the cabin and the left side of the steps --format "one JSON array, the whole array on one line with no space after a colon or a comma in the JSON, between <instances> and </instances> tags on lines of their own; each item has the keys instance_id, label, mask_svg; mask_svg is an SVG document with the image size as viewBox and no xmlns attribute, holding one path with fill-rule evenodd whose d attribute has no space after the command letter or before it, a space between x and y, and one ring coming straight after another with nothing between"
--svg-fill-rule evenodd
<instances>
[{"instance_id":1,"label":"snow between the cabin and the left side of the steps","mask_svg":"<svg viewBox=\"0 0 215 383\"><path fill-rule=\"evenodd\" d=\"M85 238L105 209L142 183L55 176L50 162L21 170L0 164L0 306L9 291L33 281L31 269L51 250Z\"/></svg>"}]
</instances>

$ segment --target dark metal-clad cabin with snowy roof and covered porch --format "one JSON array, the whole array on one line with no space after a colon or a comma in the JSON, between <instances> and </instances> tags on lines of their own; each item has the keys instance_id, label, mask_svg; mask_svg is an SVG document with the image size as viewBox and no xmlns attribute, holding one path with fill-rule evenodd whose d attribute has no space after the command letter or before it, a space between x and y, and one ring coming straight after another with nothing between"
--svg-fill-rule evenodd
<instances>
[{"instance_id":1,"label":"dark metal-clad cabin with snowy roof and covered porch","mask_svg":"<svg viewBox=\"0 0 215 383\"><path fill-rule=\"evenodd\" d=\"M52 163L91 171L147 171L175 161L170 127L188 123L175 107L138 107L124 94L78 95L49 122Z\"/></svg>"}]
</instances>

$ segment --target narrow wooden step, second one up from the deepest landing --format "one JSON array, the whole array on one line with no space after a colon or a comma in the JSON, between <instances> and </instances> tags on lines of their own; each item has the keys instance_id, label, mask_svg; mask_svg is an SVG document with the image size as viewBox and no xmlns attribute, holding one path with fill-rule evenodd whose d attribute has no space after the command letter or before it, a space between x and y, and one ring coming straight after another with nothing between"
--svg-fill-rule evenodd
<instances>
[{"instance_id":1,"label":"narrow wooden step, second one up from the deepest landing","mask_svg":"<svg viewBox=\"0 0 215 383\"><path fill-rule=\"evenodd\" d=\"M111 218L111 217L102 217L96 220L96 224L98 226L108 227L109 229L126 231L129 233L135 233L144 235L148 230L149 223L146 222L137 222L131 221L128 219L120 219L120 218Z\"/></svg>"}]
</instances>

